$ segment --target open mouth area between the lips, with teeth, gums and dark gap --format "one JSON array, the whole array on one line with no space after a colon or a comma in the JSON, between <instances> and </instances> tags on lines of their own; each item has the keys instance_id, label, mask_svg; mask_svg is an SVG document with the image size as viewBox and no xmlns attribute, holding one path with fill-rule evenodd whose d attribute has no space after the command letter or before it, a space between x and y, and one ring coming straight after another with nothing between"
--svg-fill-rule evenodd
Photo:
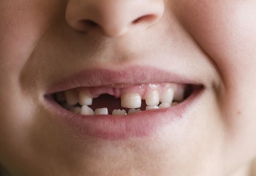
<instances>
[{"instance_id":1,"label":"open mouth area between the lips, with teeth, gums and dark gap","mask_svg":"<svg viewBox=\"0 0 256 176\"><path fill-rule=\"evenodd\" d=\"M151 83L128 86L78 87L53 94L66 110L81 115L131 115L175 106L199 89L198 85Z\"/></svg>"}]
</instances>

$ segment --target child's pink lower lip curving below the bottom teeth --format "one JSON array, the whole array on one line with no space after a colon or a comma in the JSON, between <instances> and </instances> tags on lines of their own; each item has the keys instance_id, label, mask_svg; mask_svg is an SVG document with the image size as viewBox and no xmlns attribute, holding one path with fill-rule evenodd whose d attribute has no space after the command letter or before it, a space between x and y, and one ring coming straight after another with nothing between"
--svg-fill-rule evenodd
<instances>
[{"instance_id":1,"label":"child's pink lower lip curving below the bottom teeth","mask_svg":"<svg viewBox=\"0 0 256 176\"><path fill-rule=\"evenodd\" d=\"M45 106L60 123L64 122L84 135L108 140L148 137L174 120L183 118L199 100L203 90L194 90L185 101L174 107L146 110L128 116L79 115L65 110L52 98L45 99Z\"/></svg>"}]
</instances>

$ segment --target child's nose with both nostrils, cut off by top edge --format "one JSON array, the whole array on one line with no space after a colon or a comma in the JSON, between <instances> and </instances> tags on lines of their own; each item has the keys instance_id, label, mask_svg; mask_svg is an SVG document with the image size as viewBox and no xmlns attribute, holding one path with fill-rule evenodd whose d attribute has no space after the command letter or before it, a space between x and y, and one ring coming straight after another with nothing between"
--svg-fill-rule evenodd
<instances>
[{"instance_id":1,"label":"child's nose with both nostrils, cut off by top edge","mask_svg":"<svg viewBox=\"0 0 256 176\"><path fill-rule=\"evenodd\" d=\"M66 20L80 32L99 29L117 37L138 29L147 29L163 15L163 0L69 0Z\"/></svg>"}]
</instances>

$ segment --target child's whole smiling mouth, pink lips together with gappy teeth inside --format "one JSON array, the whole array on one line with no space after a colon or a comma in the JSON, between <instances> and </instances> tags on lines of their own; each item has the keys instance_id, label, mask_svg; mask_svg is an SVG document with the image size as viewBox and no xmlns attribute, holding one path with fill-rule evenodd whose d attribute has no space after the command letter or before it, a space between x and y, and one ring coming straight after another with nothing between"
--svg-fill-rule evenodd
<instances>
[{"instance_id":1,"label":"child's whole smiling mouth, pink lips together with gappy teeth inside","mask_svg":"<svg viewBox=\"0 0 256 176\"><path fill-rule=\"evenodd\" d=\"M52 116L88 136L151 136L174 119L183 118L205 89L184 77L157 73L138 67L87 70L52 86L44 95L45 107Z\"/></svg>"}]
</instances>

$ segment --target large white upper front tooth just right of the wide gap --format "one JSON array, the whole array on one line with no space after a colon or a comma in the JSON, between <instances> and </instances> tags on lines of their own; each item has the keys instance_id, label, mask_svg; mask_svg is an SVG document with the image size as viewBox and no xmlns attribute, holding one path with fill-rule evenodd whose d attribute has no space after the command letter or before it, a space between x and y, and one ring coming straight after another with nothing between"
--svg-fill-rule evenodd
<instances>
[{"instance_id":1,"label":"large white upper front tooth just right of the wide gap","mask_svg":"<svg viewBox=\"0 0 256 176\"><path fill-rule=\"evenodd\" d=\"M121 96L121 106L126 108L141 107L141 96L139 93L126 93Z\"/></svg>"}]
</instances>

